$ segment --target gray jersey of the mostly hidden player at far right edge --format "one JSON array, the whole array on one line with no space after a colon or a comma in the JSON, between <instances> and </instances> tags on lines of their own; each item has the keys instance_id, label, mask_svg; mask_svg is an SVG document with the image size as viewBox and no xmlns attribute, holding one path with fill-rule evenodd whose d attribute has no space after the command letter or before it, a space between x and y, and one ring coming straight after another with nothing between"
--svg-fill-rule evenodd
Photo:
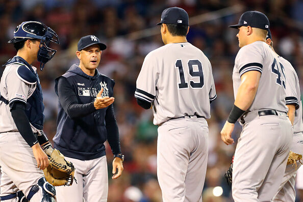
<instances>
[{"instance_id":1,"label":"gray jersey of the mostly hidden player at far right edge","mask_svg":"<svg viewBox=\"0 0 303 202\"><path fill-rule=\"evenodd\" d=\"M298 75L290 62L283 57L279 57L279 60L281 65L284 66L286 74L286 105L295 105L296 107L293 132L303 132L302 103Z\"/></svg>"}]
</instances>

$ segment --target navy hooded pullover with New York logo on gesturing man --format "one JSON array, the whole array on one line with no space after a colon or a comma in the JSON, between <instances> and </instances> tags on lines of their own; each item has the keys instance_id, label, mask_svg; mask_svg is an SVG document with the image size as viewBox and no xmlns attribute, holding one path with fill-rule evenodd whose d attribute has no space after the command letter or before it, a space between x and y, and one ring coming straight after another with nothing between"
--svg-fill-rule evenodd
<instances>
[{"instance_id":1,"label":"navy hooded pullover with New York logo on gesturing man","mask_svg":"<svg viewBox=\"0 0 303 202\"><path fill-rule=\"evenodd\" d=\"M105 155L108 139L113 154L121 153L113 105L96 110L93 102L103 87L102 96L113 96L115 82L95 70L93 77L74 64L56 79L59 96L57 133L54 147L70 158L91 160Z\"/></svg>"}]
</instances>

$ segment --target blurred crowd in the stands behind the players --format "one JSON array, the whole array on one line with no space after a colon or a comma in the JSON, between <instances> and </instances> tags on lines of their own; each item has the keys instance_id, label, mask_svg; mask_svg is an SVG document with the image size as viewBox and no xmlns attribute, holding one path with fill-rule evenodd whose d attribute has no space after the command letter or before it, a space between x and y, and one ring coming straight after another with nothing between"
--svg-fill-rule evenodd
<instances>
[{"instance_id":1,"label":"blurred crowd in the stands behind the players","mask_svg":"<svg viewBox=\"0 0 303 202\"><path fill-rule=\"evenodd\" d=\"M184 8L193 17L237 4L243 6L242 11L224 17L218 15L211 21L191 26L187 37L211 61L218 95L211 104L211 119L208 120L209 160L203 201L233 201L231 186L226 183L224 173L230 166L236 143L226 146L220 136L234 103L232 70L239 50L237 30L228 25L237 23L247 10L265 13L270 20L276 52L293 64L302 79L302 0L0 0L0 63L4 64L16 54L13 45L7 42L22 21L42 21L57 32L60 45L52 48L58 51L42 72L38 70L45 104L44 132L52 140L56 134L58 105L55 78L78 62L75 51L82 36L93 34L106 43L107 49L102 52L98 70L116 82L114 108L125 155L121 178L109 180L108 201L161 201L156 173L157 126L152 122L152 110L140 108L134 92L144 57L163 42L160 27L159 34L141 39L133 40L128 34L156 27L167 7ZM38 66L38 63L34 65ZM3 70L4 67L0 67L0 75ZM237 124L233 133L235 140L240 132L241 127ZM107 158L109 176L112 176L112 153L108 144ZM299 198L298 193L297 201L303 201L303 194Z\"/></svg>"}]
</instances>

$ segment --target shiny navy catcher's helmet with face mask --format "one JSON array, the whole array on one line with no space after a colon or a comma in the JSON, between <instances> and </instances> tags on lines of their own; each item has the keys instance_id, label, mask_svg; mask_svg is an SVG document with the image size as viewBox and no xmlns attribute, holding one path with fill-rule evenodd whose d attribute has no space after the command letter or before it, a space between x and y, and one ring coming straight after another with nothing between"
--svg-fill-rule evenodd
<instances>
[{"instance_id":1,"label":"shiny navy catcher's helmet with face mask","mask_svg":"<svg viewBox=\"0 0 303 202\"><path fill-rule=\"evenodd\" d=\"M28 39L41 40L37 60L41 62L40 69L42 71L44 64L52 59L57 52L57 50L48 47L48 45L50 42L60 44L58 35L42 22L25 21L16 27L14 38L8 43L16 43ZM48 55L49 53L50 55Z\"/></svg>"}]
</instances>

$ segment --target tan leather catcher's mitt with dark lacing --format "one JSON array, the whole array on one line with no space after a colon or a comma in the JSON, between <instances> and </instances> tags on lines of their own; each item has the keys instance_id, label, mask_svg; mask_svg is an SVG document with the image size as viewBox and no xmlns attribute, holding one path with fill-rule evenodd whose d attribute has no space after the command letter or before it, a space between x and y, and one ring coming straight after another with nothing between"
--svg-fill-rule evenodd
<instances>
[{"instance_id":1,"label":"tan leather catcher's mitt with dark lacing","mask_svg":"<svg viewBox=\"0 0 303 202\"><path fill-rule=\"evenodd\" d=\"M53 186L72 185L75 168L71 162L66 161L57 149L48 156L48 162L49 165L43 170L47 182Z\"/></svg>"}]
</instances>

